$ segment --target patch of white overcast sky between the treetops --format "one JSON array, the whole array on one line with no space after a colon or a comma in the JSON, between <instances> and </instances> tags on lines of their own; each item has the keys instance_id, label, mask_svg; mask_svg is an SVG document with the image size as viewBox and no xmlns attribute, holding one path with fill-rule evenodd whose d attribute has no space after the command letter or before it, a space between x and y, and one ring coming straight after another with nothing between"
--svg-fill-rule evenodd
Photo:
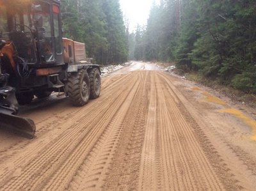
<instances>
[{"instance_id":1,"label":"patch of white overcast sky between the treetops","mask_svg":"<svg viewBox=\"0 0 256 191\"><path fill-rule=\"evenodd\" d=\"M154 0L120 0L125 17L129 20L132 32L137 24L147 24L148 14ZM156 1L157 2L157 1Z\"/></svg>"}]
</instances>

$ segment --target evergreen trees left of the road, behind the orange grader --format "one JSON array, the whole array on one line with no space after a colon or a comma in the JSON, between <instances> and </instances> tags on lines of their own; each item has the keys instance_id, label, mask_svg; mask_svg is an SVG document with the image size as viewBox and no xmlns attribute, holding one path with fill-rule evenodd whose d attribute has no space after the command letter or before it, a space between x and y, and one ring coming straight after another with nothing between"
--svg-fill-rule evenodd
<instances>
[{"instance_id":1,"label":"evergreen trees left of the road, behind the orange grader","mask_svg":"<svg viewBox=\"0 0 256 191\"><path fill-rule=\"evenodd\" d=\"M128 57L128 34L118 0L63 0L63 31L86 43L99 64L122 63Z\"/></svg>"}]
</instances>

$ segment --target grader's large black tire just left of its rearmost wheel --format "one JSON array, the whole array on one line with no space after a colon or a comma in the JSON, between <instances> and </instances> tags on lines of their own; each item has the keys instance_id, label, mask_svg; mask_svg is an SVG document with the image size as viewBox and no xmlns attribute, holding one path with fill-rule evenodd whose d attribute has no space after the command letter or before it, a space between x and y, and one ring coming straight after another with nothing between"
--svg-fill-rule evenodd
<instances>
[{"instance_id":1,"label":"grader's large black tire just left of its rearmost wheel","mask_svg":"<svg viewBox=\"0 0 256 191\"><path fill-rule=\"evenodd\" d=\"M90 98L90 79L86 70L79 70L68 77L68 96L75 106L83 106Z\"/></svg>"}]
</instances>

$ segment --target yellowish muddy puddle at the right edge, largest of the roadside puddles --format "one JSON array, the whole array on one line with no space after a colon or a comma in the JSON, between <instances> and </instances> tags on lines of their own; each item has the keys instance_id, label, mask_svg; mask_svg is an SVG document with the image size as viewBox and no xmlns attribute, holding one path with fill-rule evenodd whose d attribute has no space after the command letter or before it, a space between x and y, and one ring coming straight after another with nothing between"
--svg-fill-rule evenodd
<instances>
[{"instance_id":1,"label":"yellowish muddy puddle at the right edge, largest of the roadside puddles","mask_svg":"<svg viewBox=\"0 0 256 191\"><path fill-rule=\"evenodd\" d=\"M237 109L221 109L219 112L232 114L233 116L236 116L237 118L244 121L244 123L246 123L246 125L248 125L252 128L253 135L252 135L251 139L253 141L256 141L256 121L255 120L248 118L247 116L245 116L243 114L243 112L241 112Z\"/></svg>"}]
</instances>

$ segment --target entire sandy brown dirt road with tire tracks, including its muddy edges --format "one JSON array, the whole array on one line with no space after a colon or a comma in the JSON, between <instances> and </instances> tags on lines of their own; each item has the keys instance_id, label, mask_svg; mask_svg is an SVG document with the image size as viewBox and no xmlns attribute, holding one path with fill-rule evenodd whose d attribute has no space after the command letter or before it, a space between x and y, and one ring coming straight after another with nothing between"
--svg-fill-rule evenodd
<instances>
[{"instance_id":1,"label":"entire sandy brown dirt road with tire tracks, including its muddy edges","mask_svg":"<svg viewBox=\"0 0 256 191\"><path fill-rule=\"evenodd\" d=\"M23 107L36 138L0 130L0 190L255 190L256 114L157 70L111 73L85 107Z\"/></svg>"}]
</instances>

